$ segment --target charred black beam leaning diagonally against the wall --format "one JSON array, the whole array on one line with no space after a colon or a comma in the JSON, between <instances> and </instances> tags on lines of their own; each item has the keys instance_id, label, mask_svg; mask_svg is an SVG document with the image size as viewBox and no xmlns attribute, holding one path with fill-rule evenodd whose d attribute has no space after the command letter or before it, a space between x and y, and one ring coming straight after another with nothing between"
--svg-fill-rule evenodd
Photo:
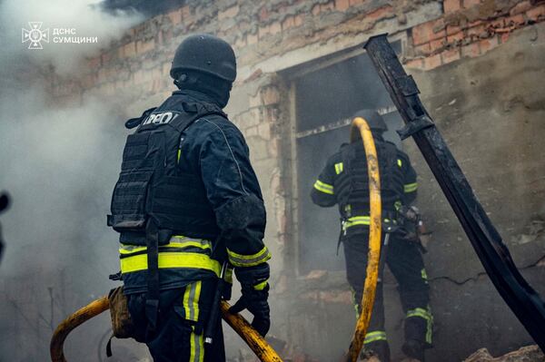
<instances>
[{"instance_id":1,"label":"charred black beam leaning diagonally against the wall","mask_svg":"<svg viewBox=\"0 0 545 362\"><path fill-rule=\"evenodd\" d=\"M399 132L401 138L413 137L501 298L545 351L545 305L520 275L509 249L422 105L416 83L391 49L387 34L373 36L364 48L406 123Z\"/></svg>"}]
</instances>

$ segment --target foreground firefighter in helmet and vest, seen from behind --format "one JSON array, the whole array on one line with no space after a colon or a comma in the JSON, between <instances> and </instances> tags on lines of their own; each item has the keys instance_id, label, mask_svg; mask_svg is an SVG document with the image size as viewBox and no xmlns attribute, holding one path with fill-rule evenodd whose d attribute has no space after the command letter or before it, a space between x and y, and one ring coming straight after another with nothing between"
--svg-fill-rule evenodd
<instances>
[{"instance_id":1,"label":"foreground firefighter in helmet and vest, seen from behind","mask_svg":"<svg viewBox=\"0 0 545 362\"><path fill-rule=\"evenodd\" d=\"M242 286L233 311L247 308L263 336L270 327L263 196L243 134L222 110L236 77L233 48L190 35L170 75L178 90L125 123L135 131L108 224L120 232L134 338L154 361L224 361L221 319L213 345L203 343L223 261Z\"/></svg>"}]
</instances>

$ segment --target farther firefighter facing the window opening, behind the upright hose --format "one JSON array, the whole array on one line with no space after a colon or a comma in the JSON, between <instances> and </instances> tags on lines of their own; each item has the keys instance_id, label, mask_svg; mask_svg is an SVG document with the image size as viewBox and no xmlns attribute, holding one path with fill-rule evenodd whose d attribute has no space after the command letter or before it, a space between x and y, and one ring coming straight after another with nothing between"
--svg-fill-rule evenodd
<instances>
[{"instance_id":1,"label":"farther firefighter facing the window opening, behind the upright hose","mask_svg":"<svg viewBox=\"0 0 545 362\"><path fill-rule=\"evenodd\" d=\"M384 229L396 230L391 232L388 238L386 264L399 283L401 305L406 313L405 343L402 350L407 357L422 361L424 349L431 347L429 286L421 257L421 245L407 237L409 233L401 226L401 219L415 220L410 217L417 209L410 205L416 198L416 172L412 169L409 156L382 138L382 133L387 131L387 127L379 113L362 110L354 117L364 118L371 128L381 175L382 223ZM321 207L332 207L335 204L339 206L342 220L339 242L342 242L344 248L346 276L352 288L354 305L359 316L369 246L369 179L362 139L356 138L351 141L350 144L343 144L341 150L329 158L314 183L311 197L312 201ZM405 217L401 215L400 210L411 212L407 211L409 215ZM380 281L377 285L363 355L375 356L382 362L387 362L390 361L390 348L384 330L382 284Z\"/></svg>"}]
</instances>

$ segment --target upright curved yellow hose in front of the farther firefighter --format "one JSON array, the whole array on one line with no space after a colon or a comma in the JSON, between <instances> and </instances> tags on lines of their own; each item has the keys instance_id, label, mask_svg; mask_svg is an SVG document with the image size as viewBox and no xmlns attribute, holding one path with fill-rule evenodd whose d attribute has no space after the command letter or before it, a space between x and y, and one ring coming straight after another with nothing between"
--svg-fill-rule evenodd
<instances>
[{"instance_id":1,"label":"upright curved yellow hose in front of the farther firefighter","mask_svg":"<svg viewBox=\"0 0 545 362\"><path fill-rule=\"evenodd\" d=\"M354 140L357 133L362 135L363 147L367 158L367 172L369 175L369 202L371 210L371 224L369 226L369 255L367 262L367 277L363 288L362 314L356 323L356 330L350 344L347 361L356 362L363 347L363 340L371 320L372 305L375 298L377 279L379 277L379 259L381 257L381 178L379 174L379 161L377 150L372 139L372 133L367 122L356 117L352 121L351 139Z\"/></svg>"}]
</instances>

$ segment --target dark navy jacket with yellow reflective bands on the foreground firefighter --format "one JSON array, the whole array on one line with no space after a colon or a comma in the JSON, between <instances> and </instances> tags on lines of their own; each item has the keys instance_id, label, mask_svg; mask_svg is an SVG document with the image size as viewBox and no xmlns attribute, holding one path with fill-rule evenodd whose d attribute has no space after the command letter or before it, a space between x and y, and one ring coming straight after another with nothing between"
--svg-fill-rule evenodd
<instances>
[{"instance_id":1,"label":"dark navy jacket with yellow reflective bands on the foreground firefighter","mask_svg":"<svg viewBox=\"0 0 545 362\"><path fill-rule=\"evenodd\" d=\"M213 99L203 93L176 91L155 113L169 110L183 113L184 103L213 103ZM149 114L142 117L142 122L146 119ZM253 267L270 259L263 244L266 219L263 196L242 132L226 115L209 114L181 133L179 147L174 152L169 151L164 162L177 162L179 173L193 175L195 186L179 202L185 199L196 201L197 206L201 204L199 209L205 212L195 210L193 216L206 220L196 223L199 228L194 230L192 223L173 225L173 238L166 245L160 243L161 289L181 288L195 280L214 278L219 274L218 259L229 259L235 268ZM174 209L175 194L168 196L167 201ZM145 247L136 234L134 242L131 237L131 233L122 232L121 269L126 294L146 290Z\"/></svg>"}]
</instances>

